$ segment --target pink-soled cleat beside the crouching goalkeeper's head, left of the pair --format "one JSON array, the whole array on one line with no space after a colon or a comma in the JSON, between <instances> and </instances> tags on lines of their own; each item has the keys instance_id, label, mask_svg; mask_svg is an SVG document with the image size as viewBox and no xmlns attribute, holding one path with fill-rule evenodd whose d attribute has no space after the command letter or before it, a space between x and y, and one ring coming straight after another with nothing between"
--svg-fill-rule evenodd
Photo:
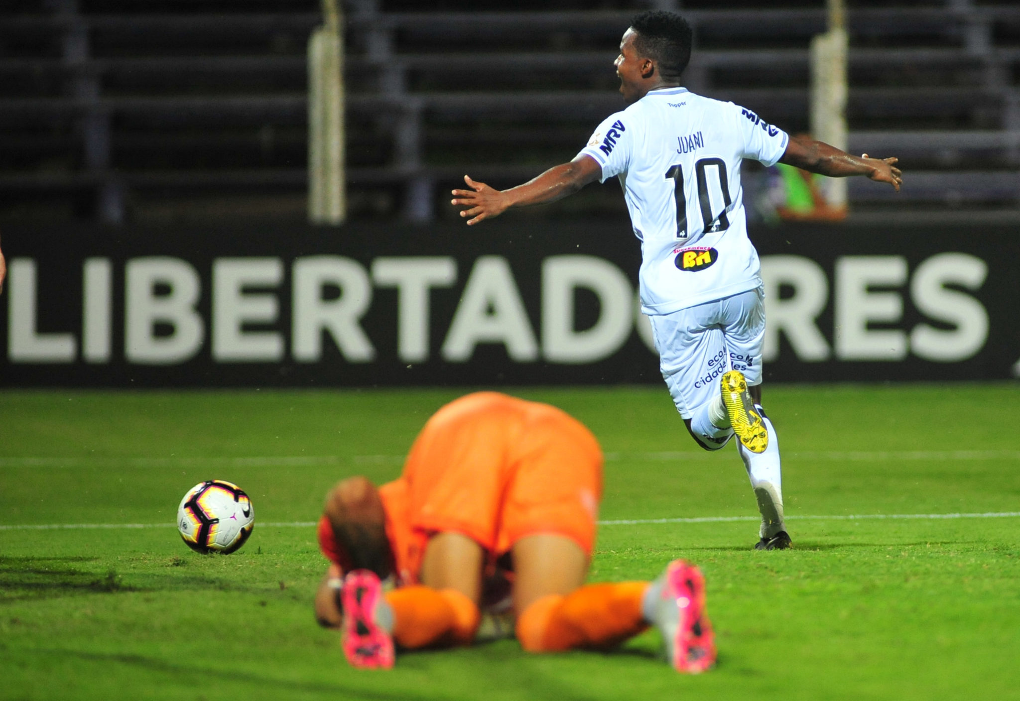
<instances>
[{"instance_id":1,"label":"pink-soled cleat beside the crouching goalkeeper's head, left of the pair","mask_svg":"<svg viewBox=\"0 0 1020 701\"><path fill-rule=\"evenodd\" d=\"M393 638L379 625L377 608L386 606L382 585L370 570L354 570L344 578L344 655L362 669L393 667Z\"/></svg>"}]
</instances>

